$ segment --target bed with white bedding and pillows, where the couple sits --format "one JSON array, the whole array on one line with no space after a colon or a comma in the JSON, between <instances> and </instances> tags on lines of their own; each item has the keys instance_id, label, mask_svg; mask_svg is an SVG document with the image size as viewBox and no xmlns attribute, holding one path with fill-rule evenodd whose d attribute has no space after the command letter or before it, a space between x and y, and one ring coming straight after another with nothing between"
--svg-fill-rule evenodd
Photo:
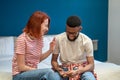
<instances>
[{"instance_id":1,"label":"bed with white bedding and pillows, where the couple sits","mask_svg":"<svg viewBox=\"0 0 120 80\"><path fill-rule=\"evenodd\" d=\"M46 35L44 37L44 45L49 45L54 35ZM0 37L0 80L12 80L12 57L14 51L15 37ZM43 52L49 46L44 46ZM51 55L40 64L38 68L51 68ZM98 80L120 80L120 65L100 62L95 60L95 72Z\"/></svg>"}]
</instances>

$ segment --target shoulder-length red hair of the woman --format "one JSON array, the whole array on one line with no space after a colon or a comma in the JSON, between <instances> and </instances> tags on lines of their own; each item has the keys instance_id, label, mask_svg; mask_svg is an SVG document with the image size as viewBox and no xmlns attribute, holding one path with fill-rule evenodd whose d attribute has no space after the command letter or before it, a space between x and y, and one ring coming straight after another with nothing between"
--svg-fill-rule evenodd
<instances>
[{"instance_id":1,"label":"shoulder-length red hair of the woman","mask_svg":"<svg viewBox=\"0 0 120 80\"><path fill-rule=\"evenodd\" d=\"M23 32L28 33L35 38L40 38L41 24L43 23L43 21L45 19L48 19L48 27L49 27L49 25L50 25L49 16L44 12L40 12L40 11L34 12L30 16L28 23L27 23L26 27L24 28Z\"/></svg>"}]
</instances>

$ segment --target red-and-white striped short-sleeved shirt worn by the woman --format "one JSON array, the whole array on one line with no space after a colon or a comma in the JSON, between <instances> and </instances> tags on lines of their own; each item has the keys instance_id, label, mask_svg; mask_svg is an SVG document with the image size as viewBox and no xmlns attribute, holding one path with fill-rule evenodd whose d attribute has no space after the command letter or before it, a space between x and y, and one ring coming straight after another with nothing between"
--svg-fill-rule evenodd
<instances>
[{"instance_id":1,"label":"red-and-white striped short-sleeved shirt worn by the woman","mask_svg":"<svg viewBox=\"0 0 120 80\"><path fill-rule=\"evenodd\" d=\"M26 35L26 33L22 33L18 36L15 43L14 56L12 60L12 74L19 74L18 65L17 65L17 55L23 54L25 55L25 65L30 66L32 68L37 68L37 64L40 62L40 55L42 54L43 47L43 39L31 39Z\"/></svg>"}]
</instances>

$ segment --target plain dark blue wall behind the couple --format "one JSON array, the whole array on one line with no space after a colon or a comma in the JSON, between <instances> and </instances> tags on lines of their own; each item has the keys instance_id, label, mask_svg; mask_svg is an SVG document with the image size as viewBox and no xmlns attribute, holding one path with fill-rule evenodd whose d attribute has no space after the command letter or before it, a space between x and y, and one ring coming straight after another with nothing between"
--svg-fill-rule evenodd
<instances>
[{"instance_id":1,"label":"plain dark blue wall behind the couple","mask_svg":"<svg viewBox=\"0 0 120 80\"><path fill-rule=\"evenodd\" d=\"M68 16L80 16L82 32L99 40L95 59L107 60L108 0L0 0L0 36L18 36L36 10L51 17L48 34L65 31Z\"/></svg>"}]
</instances>

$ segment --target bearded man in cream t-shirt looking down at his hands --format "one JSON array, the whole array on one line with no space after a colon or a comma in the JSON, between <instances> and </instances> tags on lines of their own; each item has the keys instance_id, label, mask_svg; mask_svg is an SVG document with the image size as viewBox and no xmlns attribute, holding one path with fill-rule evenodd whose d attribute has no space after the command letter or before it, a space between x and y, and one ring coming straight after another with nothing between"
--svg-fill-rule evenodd
<instances>
[{"instance_id":1,"label":"bearded man in cream t-shirt looking down at his hands","mask_svg":"<svg viewBox=\"0 0 120 80\"><path fill-rule=\"evenodd\" d=\"M51 63L64 80L96 80L92 40L81 30L80 18L70 16L66 21L66 32L55 37L56 48ZM57 61L59 55L62 65Z\"/></svg>"}]
</instances>

